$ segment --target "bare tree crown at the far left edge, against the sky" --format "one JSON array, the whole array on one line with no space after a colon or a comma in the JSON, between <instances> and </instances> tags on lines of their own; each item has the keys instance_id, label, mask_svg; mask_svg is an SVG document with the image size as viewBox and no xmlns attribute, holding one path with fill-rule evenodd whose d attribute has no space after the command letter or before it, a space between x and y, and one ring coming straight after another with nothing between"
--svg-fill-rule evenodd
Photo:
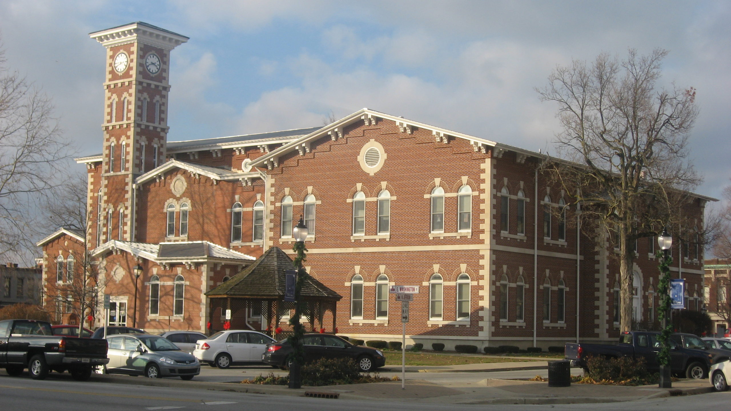
<instances>
[{"instance_id":1,"label":"bare tree crown at the far left edge, against the sky","mask_svg":"<svg viewBox=\"0 0 731 411\"><path fill-rule=\"evenodd\" d=\"M23 257L34 249L29 210L69 158L52 113L50 99L8 69L0 50L0 256Z\"/></svg>"}]
</instances>

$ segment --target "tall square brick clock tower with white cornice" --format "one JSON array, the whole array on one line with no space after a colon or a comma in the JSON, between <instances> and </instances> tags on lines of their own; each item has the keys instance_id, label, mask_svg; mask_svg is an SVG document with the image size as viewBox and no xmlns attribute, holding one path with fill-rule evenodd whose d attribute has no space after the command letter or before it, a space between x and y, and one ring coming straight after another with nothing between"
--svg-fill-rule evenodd
<instances>
[{"instance_id":1,"label":"tall square brick clock tower with white cornice","mask_svg":"<svg viewBox=\"0 0 731 411\"><path fill-rule=\"evenodd\" d=\"M137 21L89 36L107 49L96 245L133 237L135 178L164 162L170 51L188 37ZM91 201L89 202L91 206ZM103 228L102 228L103 227Z\"/></svg>"}]
</instances>

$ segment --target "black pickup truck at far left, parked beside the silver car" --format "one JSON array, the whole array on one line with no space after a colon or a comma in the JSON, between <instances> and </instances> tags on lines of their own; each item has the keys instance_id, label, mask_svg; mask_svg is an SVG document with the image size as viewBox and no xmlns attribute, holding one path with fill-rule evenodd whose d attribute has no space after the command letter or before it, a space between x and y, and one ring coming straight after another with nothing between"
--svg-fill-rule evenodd
<instances>
[{"instance_id":1,"label":"black pickup truck at far left, parked beside the silver car","mask_svg":"<svg viewBox=\"0 0 731 411\"><path fill-rule=\"evenodd\" d=\"M68 370L85 381L94 366L108 362L105 339L54 336L45 321L0 321L0 367L12 376L27 368L34 380L43 380L50 370Z\"/></svg>"}]
</instances>

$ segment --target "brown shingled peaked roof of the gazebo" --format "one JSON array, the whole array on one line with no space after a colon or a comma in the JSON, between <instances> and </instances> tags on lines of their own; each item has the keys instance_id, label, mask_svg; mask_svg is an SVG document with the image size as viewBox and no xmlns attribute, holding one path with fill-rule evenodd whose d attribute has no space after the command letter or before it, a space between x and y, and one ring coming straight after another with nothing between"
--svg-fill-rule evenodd
<instances>
[{"instance_id":1,"label":"brown shingled peaked roof of the gazebo","mask_svg":"<svg viewBox=\"0 0 731 411\"><path fill-rule=\"evenodd\" d=\"M205 295L216 297L239 298L281 298L284 295L285 271L294 270L295 265L287 253L279 247L271 247L259 259L232 276ZM305 298L329 298L339 300L342 297L330 288L325 287L317 279L307 276L303 284L301 296Z\"/></svg>"}]
</instances>

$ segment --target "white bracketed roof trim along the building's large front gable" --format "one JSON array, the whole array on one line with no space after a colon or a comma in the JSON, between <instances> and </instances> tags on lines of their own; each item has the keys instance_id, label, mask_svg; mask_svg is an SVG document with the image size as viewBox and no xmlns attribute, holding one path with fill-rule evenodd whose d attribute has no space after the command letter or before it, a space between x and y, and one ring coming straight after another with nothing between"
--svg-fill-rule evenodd
<instances>
[{"instance_id":1,"label":"white bracketed roof trim along the building's large front gable","mask_svg":"<svg viewBox=\"0 0 731 411\"><path fill-rule=\"evenodd\" d=\"M391 116L390 114L381 113L379 111L370 110L368 108L363 108L362 110L358 110L355 113L352 113L350 116L346 116L344 118L341 118L340 120L331 123L325 127L322 127L322 129L319 129L315 132L312 132L304 137L300 137L297 140L292 141L292 143L288 143L284 146L281 146L280 148L277 148L274 151L271 151L270 153L258 157L254 161L251 162L251 165L254 167L261 167L262 165L267 164L267 162L275 162L281 155L287 154L290 151L293 151L297 149L300 145L306 144L312 140L316 140L318 138L322 138L325 135L332 135L332 133L337 133L338 135L342 133L342 127L345 127L349 124L355 123L355 121L367 121L368 119L372 117L377 118L383 118L385 120L390 120L395 122L396 124L399 124L400 127L404 127L404 129L411 129L411 127L419 127L420 129L428 129L431 130L431 132L434 135L451 135L453 137L463 138L464 140L469 140L472 143L476 144L484 144L485 146L496 146L496 142L492 140L487 140L482 137L475 137L472 135L466 135L461 132L455 132L449 129L443 129L442 127L435 127L431 126L429 124L424 124L419 121L413 121L409 120L407 118L402 117L396 117ZM410 131L409 131L410 132ZM275 164L276 167L276 164Z\"/></svg>"}]
</instances>

